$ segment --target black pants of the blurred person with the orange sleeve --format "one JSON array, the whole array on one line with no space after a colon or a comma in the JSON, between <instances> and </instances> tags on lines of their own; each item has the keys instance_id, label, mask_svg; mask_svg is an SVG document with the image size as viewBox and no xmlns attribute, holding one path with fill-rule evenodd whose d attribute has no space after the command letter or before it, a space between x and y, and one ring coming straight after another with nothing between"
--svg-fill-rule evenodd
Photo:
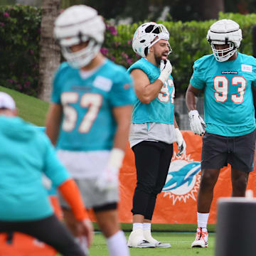
<instances>
[{"instance_id":1,"label":"black pants of the blurred person with the orange sleeve","mask_svg":"<svg viewBox=\"0 0 256 256\"><path fill-rule=\"evenodd\" d=\"M31 235L52 246L63 256L85 256L73 235L60 221L51 215L48 218L33 221L0 221L0 233L21 232Z\"/></svg>"}]
</instances>

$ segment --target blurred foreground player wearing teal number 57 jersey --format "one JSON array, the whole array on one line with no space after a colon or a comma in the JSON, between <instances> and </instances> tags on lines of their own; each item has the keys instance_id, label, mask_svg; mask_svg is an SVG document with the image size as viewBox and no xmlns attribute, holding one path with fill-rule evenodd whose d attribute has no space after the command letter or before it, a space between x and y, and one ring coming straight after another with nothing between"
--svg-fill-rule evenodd
<instances>
[{"instance_id":1,"label":"blurred foreground player wearing teal number 57 jersey","mask_svg":"<svg viewBox=\"0 0 256 256\"><path fill-rule=\"evenodd\" d=\"M123 67L100 53L105 23L95 9L71 6L56 19L54 33L67 62L55 73L46 133L77 181L86 206L94 210L110 255L127 256L117 202L135 97L132 80ZM73 213L61 198L60 204L77 235Z\"/></svg>"}]
</instances>

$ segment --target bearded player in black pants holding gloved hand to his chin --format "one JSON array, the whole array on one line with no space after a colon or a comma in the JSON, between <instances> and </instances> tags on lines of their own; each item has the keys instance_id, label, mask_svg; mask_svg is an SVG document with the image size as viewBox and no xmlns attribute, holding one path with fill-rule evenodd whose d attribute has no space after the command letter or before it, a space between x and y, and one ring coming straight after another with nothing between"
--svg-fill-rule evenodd
<instances>
[{"instance_id":1,"label":"bearded player in black pants holding gloved hand to his chin","mask_svg":"<svg viewBox=\"0 0 256 256\"><path fill-rule=\"evenodd\" d=\"M134 33L132 48L142 56L128 70L134 78L137 100L132 113L129 142L134 151L137 186L133 197L133 228L129 247L170 247L151 236L156 196L166 182L173 143L178 155L186 143L174 118L174 79L168 60L169 32L162 24L144 23Z\"/></svg>"}]
</instances>

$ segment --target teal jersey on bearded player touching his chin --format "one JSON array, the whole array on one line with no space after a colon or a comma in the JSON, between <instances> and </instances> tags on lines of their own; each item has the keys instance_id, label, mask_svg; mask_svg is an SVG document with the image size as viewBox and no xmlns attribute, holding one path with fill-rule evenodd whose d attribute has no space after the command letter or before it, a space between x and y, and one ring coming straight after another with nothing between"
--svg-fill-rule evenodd
<instances>
[{"instance_id":1,"label":"teal jersey on bearded player touching his chin","mask_svg":"<svg viewBox=\"0 0 256 256\"><path fill-rule=\"evenodd\" d=\"M151 83L160 75L160 69L146 58L141 58L134 63L128 72L131 73L134 69L142 70ZM137 98L132 112L132 122L135 124L146 122L174 124L174 93L174 79L170 75L169 80L164 82L159 95L149 104L144 104Z\"/></svg>"}]
</instances>

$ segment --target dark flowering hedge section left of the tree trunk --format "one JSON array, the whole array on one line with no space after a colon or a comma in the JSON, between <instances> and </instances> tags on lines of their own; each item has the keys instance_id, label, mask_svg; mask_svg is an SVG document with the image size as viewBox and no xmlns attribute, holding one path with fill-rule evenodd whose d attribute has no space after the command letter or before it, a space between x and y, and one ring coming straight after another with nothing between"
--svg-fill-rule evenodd
<instances>
[{"instance_id":1,"label":"dark flowering hedge section left of the tree trunk","mask_svg":"<svg viewBox=\"0 0 256 256\"><path fill-rule=\"evenodd\" d=\"M41 9L0 6L0 85L37 95Z\"/></svg>"}]
</instances>

